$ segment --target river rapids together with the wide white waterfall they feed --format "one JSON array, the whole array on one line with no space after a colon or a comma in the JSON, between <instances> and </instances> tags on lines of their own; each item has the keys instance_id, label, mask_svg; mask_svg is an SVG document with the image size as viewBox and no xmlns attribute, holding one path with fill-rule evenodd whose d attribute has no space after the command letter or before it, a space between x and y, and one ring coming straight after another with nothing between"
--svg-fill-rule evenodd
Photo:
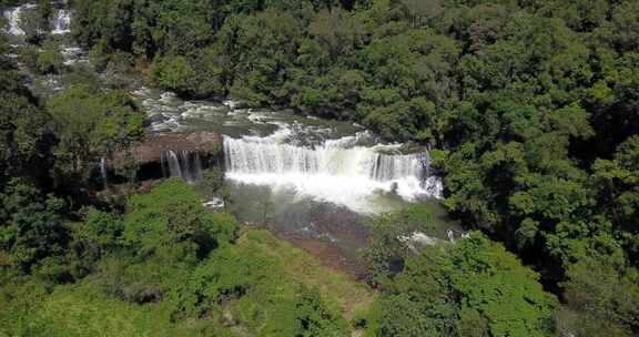
<instances>
[{"instance_id":1,"label":"river rapids together with the wide white waterfall they feed","mask_svg":"<svg viewBox=\"0 0 639 337\"><path fill-rule=\"evenodd\" d=\"M290 112L182 101L151 89L134 92L161 132L215 131L224 135L226 176L234 184L333 203L362 214L398 203L437 198L426 151L402 154L362 126Z\"/></svg>"}]
</instances>

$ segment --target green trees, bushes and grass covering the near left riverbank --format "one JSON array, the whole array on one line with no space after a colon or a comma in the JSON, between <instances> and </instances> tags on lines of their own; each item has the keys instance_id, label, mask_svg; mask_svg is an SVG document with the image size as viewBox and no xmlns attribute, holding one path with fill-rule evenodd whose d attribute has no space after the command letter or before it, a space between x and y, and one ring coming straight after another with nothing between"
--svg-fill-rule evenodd
<instances>
[{"instance_id":1,"label":"green trees, bushes and grass covering the near left riverbank","mask_svg":"<svg viewBox=\"0 0 639 337\"><path fill-rule=\"evenodd\" d=\"M41 104L2 58L0 335L348 334L347 302L371 303L369 289L268 233L240 236L182 181L95 202L91 167L144 136L140 109L81 73ZM200 190L224 196L223 174Z\"/></svg>"}]
</instances>

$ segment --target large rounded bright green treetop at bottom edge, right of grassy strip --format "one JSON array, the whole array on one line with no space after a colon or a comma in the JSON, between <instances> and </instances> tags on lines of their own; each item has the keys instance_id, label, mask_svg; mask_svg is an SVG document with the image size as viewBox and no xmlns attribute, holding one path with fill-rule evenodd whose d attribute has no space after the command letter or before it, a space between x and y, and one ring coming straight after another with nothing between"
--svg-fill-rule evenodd
<instances>
[{"instance_id":1,"label":"large rounded bright green treetop at bottom edge, right of grassy strip","mask_svg":"<svg viewBox=\"0 0 639 337\"><path fill-rule=\"evenodd\" d=\"M479 234L429 246L383 285L369 336L551 336L557 299Z\"/></svg>"}]
</instances>

